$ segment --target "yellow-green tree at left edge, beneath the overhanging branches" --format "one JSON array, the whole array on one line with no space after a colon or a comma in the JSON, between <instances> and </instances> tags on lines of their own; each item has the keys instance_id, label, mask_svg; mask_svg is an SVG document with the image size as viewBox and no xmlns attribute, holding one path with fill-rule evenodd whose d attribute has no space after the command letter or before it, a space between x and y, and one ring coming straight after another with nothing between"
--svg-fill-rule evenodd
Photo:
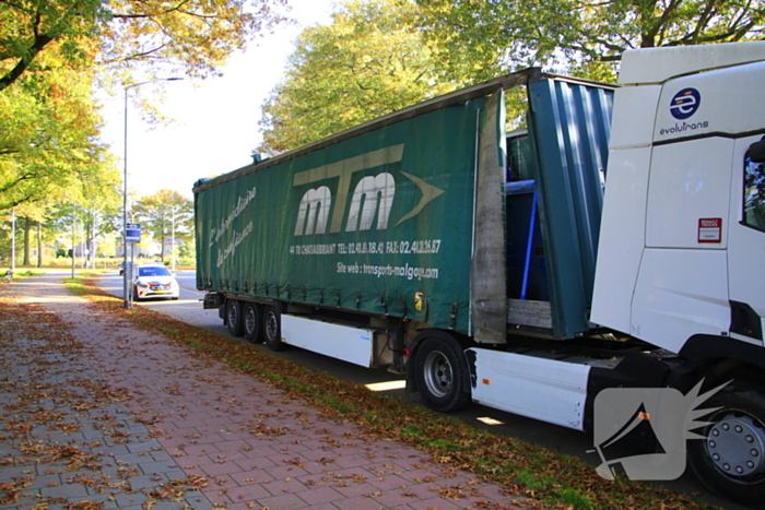
<instances>
[{"instance_id":1,"label":"yellow-green tree at left edge, beneath the overhanging branches","mask_svg":"<svg viewBox=\"0 0 765 510\"><path fill-rule=\"evenodd\" d=\"M0 93L0 210L78 192L84 175L116 176L91 84L91 73L59 70Z\"/></svg>"}]
</instances>

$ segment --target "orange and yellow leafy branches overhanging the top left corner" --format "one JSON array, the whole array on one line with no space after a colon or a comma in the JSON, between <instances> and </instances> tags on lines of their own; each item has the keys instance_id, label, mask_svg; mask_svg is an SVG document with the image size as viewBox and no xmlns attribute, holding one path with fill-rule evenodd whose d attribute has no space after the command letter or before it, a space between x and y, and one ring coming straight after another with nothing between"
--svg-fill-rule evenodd
<instances>
[{"instance_id":1,"label":"orange and yellow leafy branches overhanging the top left corner","mask_svg":"<svg viewBox=\"0 0 765 510\"><path fill-rule=\"evenodd\" d=\"M97 63L118 74L140 64L207 76L281 20L284 0L0 0L0 91L25 72Z\"/></svg>"}]
</instances>

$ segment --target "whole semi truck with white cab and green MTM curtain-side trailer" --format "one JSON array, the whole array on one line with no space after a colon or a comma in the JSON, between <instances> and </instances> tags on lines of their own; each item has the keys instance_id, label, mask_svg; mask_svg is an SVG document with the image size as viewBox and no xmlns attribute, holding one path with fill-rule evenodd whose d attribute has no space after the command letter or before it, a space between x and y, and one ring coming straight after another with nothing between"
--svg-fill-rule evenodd
<instances>
[{"instance_id":1,"label":"whole semi truck with white cab and green MTM curtain-side trailer","mask_svg":"<svg viewBox=\"0 0 765 510\"><path fill-rule=\"evenodd\" d=\"M763 83L763 41L631 50L619 85L530 68L255 155L195 185L203 306L271 349L400 372L436 411L601 447L634 428L657 454L598 448L599 473L687 459L762 503ZM616 419L636 394L647 428Z\"/></svg>"}]
</instances>

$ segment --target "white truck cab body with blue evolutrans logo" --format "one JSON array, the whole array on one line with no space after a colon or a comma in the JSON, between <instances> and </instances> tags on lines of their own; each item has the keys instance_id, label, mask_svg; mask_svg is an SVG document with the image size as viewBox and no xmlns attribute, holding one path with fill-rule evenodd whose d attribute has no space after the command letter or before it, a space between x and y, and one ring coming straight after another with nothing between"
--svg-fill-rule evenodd
<instances>
[{"instance_id":1,"label":"white truck cab body with blue evolutrans logo","mask_svg":"<svg viewBox=\"0 0 765 510\"><path fill-rule=\"evenodd\" d=\"M762 347L765 44L627 51L616 91L591 320L680 353Z\"/></svg>"}]
</instances>

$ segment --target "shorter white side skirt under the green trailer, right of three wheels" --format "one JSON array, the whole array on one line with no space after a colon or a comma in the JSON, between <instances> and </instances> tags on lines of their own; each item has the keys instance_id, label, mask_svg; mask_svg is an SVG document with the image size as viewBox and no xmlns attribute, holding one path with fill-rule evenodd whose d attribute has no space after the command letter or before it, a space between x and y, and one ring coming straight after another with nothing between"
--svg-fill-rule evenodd
<instances>
[{"instance_id":1,"label":"shorter white side skirt under the green trailer, right of three wheels","mask_svg":"<svg viewBox=\"0 0 765 510\"><path fill-rule=\"evenodd\" d=\"M372 366L374 334L375 331L370 329L282 315L282 336L285 343L362 367Z\"/></svg>"}]
</instances>

